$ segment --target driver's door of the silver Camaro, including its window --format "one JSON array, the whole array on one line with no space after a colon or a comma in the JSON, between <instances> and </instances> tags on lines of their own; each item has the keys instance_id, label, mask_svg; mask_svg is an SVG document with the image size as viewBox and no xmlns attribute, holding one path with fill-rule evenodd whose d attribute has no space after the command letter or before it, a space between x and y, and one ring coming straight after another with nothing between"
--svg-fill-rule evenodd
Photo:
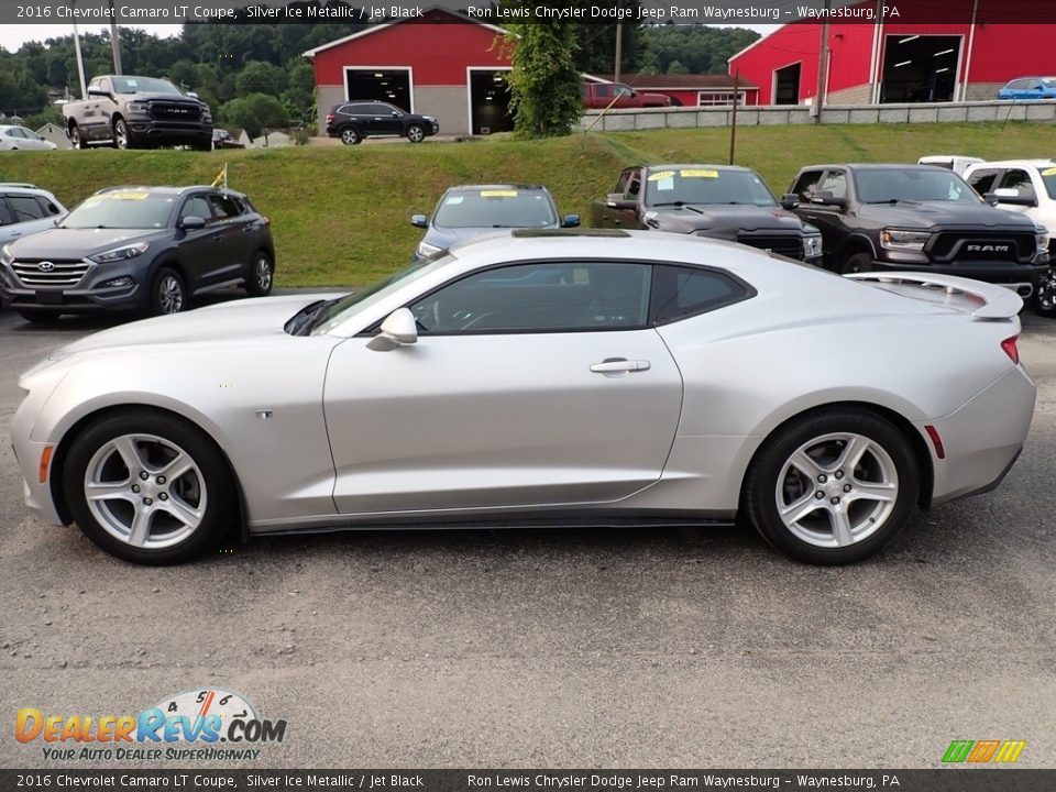
<instances>
[{"instance_id":1,"label":"driver's door of the silver Camaro, including its window","mask_svg":"<svg viewBox=\"0 0 1056 792\"><path fill-rule=\"evenodd\" d=\"M413 345L339 345L323 406L342 514L558 507L659 479L682 378L648 326L651 266L532 262L408 304Z\"/></svg>"}]
</instances>

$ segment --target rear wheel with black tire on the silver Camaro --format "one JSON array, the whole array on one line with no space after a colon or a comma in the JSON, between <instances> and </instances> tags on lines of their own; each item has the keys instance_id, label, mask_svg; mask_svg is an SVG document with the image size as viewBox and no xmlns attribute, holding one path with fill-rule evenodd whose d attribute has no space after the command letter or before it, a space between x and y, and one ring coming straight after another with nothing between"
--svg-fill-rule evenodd
<instances>
[{"instance_id":1,"label":"rear wheel with black tire on the silver Camaro","mask_svg":"<svg viewBox=\"0 0 1056 792\"><path fill-rule=\"evenodd\" d=\"M862 447L860 461L842 470L840 455ZM793 458L817 468L802 472ZM887 501L870 497L866 487ZM845 407L793 419L767 438L748 469L744 507L762 538L791 558L845 564L894 539L913 515L919 493L920 464L903 433L869 410ZM782 518L779 498L792 509L792 525ZM845 530L838 531L840 522Z\"/></svg>"}]
</instances>

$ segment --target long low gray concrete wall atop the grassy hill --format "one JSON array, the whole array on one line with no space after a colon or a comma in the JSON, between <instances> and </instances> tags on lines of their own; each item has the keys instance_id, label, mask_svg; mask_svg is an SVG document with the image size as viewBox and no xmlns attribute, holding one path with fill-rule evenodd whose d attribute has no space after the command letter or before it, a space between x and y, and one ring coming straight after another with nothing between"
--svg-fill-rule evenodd
<instances>
[{"instance_id":1,"label":"long low gray concrete wall atop the grassy hill","mask_svg":"<svg viewBox=\"0 0 1056 792\"><path fill-rule=\"evenodd\" d=\"M728 127L733 108L648 108L587 110L580 125L597 132L647 129ZM826 105L824 124L960 123L1041 121L1056 123L1056 101L975 101L905 105ZM738 127L812 124L811 108L802 105L738 105Z\"/></svg>"}]
</instances>

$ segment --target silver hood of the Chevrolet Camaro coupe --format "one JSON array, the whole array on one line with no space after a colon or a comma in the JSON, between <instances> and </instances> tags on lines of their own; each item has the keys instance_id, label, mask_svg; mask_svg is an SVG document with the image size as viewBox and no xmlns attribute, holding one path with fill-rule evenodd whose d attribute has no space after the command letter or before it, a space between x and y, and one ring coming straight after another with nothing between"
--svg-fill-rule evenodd
<instances>
[{"instance_id":1,"label":"silver hood of the Chevrolet Camaro coupe","mask_svg":"<svg viewBox=\"0 0 1056 792\"><path fill-rule=\"evenodd\" d=\"M67 344L51 360L97 351L168 344L224 343L285 333L283 326L298 310L336 294L300 294L220 302L174 316L156 317L102 330Z\"/></svg>"}]
</instances>

